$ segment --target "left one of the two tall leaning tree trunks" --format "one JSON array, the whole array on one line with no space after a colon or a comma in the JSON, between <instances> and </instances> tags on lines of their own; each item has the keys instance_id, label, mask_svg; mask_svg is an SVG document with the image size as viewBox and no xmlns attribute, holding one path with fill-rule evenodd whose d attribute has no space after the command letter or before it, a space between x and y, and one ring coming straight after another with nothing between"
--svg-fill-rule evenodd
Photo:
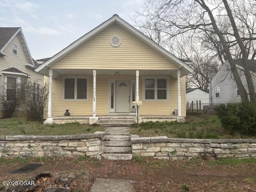
<instances>
[{"instance_id":1,"label":"left one of the two tall leaning tree trunks","mask_svg":"<svg viewBox=\"0 0 256 192\"><path fill-rule=\"evenodd\" d=\"M219 28L216 24L216 21L214 19L214 16L212 15L211 10L205 4L204 0L195 0L195 1L198 2L198 4L200 4L200 6L202 6L202 8L204 8L207 11L207 13L210 17L210 20L212 22L212 27L214 29L214 32L218 35L218 38L220 39L220 42L223 46L223 51L226 54L226 57L228 59L228 63L230 64L230 68L231 68L232 74L234 76L234 80L236 82L238 90L240 91L241 99L242 99L242 101L248 100L246 90L245 90L244 85L242 84L242 81L240 79L240 76L239 76L239 74L236 70L236 64L235 64L234 60L232 59L232 55L231 55L230 50L228 48L228 44L226 43L226 40L224 39L222 33L220 32L220 30L219 30Z\"/></svg>"}]
</instances>

